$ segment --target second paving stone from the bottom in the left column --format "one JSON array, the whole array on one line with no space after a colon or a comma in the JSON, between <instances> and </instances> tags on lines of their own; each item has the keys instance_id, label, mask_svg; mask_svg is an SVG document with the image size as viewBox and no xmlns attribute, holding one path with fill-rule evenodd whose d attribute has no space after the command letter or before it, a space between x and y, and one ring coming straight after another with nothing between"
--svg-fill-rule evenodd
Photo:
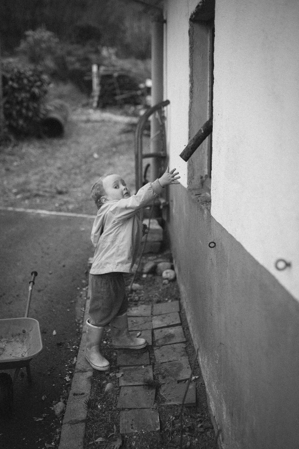
<instances>
[{"instance_id":1,"label":"second paving stone from the bottom in the left column","mask_svg":"<svg viewBox=\"0 0 299 449\"><path fill-rule=\"evenodd\" d=\"M150 409L154 405L156 388L121 387L118 409Z\"/></svg>"}]
</instances>

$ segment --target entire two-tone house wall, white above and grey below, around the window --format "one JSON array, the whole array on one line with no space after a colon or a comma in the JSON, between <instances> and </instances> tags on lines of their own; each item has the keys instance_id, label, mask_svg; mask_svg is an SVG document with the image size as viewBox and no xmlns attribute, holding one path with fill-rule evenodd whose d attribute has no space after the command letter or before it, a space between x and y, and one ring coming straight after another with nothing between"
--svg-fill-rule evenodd
<instances>
[{"instance_id":1,"label":"entire two-tone house wall, white above and grey below, around the window","mask_svg":"<svg viewBox=\"0 0 299 449\"><path fill-rule=\"evenodd\" d=\"M179 158L197 3L165 5L167 144L182 176L169 203L178 282L223 447L297 449L299 2L216 0L212 215L186 189ZM274 268L281 257L291 269Z\"/></svg>"}]
</instances>

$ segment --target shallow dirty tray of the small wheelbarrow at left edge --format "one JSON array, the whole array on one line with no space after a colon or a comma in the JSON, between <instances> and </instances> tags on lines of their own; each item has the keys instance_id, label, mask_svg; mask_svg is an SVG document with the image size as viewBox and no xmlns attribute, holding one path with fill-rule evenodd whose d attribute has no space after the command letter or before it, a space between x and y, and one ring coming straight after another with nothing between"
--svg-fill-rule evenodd
<instances>
[{"instance_id":1,"label":"shallow dirty tray of the small wheelbarrow at left edge","mask_svg":"<svg viewBox=\"0 0 299 449\"><path fill-rule=\"evenodd\" d=\"M39 322L34 318L0 320L0 369L28 365L43 349Z\"/></svg>"}]
</instances>

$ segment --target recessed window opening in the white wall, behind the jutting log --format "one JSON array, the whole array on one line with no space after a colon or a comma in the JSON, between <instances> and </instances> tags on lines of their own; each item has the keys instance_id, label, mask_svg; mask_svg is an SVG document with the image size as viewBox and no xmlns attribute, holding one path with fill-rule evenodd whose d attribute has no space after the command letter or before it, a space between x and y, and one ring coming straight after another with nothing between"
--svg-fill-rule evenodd
<instances>
[{"instance_id":1,"label":"recessed window opening in the white wall, behind the jutting log","mask_svg":"<svg viewBox=\"0 0 299 449\"><path fill-rule=\"evenodd\" d=\"M201 2L189 26L190 102L189 138L213 114L215 0ZM212 133L188 161L188 189L210 193Z\"/></svg>"}]
</instances>

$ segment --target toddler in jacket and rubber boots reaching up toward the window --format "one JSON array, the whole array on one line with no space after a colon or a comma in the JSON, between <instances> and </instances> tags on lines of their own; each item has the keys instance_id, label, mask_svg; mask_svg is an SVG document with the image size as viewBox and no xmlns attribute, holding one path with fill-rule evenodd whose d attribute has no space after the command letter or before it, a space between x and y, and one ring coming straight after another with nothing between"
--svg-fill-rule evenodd
<instances>
[{"instance_id":1,"label":"toddler in jacket and rubber boots reaching up toward the window","mask_svg":"<svg viewBox=\"0 0 299 449\"><path fill-rule=\"evenodd\" d=\"M140 349L147 345L145 339L129 333L123 273L131 273L139 252L143 228L141 209L153 202L165 185L179 184L177 175L175 168L170 172L167 168L159 179L147 183L132 196L119 175L105 176L91 189L99 210L91 231L95 255L89 276L90 318L84 354L95 370L109 368L108 360L100 353L107 324L110 324L114 348Z\"/></svg>"}]
</instances>

